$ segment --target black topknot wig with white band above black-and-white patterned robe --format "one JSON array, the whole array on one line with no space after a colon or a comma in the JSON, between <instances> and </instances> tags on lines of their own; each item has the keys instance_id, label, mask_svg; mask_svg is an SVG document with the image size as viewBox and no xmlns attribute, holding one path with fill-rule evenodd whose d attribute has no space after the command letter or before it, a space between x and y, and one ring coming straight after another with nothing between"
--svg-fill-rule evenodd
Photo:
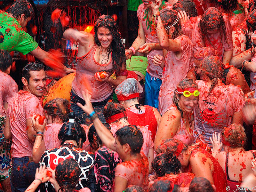
<instances>
[{"instance_id":1,"label":"black topknot wig with white band above black-and-white patterned robe","mask_svg":"<svg viewBox=\"0 0 256 192\"><path fill-rule=\"evenodd\" d=\"M75 113L69 113L68 117L69 121L70 119L75 119ZM84 141L86 141L86 134L81 124L78 124L76 122L67 122L64 123L60 128L58 139L61 141L61 145L65 142L65 140L75 140L78 145L77 147L81 148L83 146ZM79 145L80 139L82 139L82 141Z\"/></svg>"}]
</instances>

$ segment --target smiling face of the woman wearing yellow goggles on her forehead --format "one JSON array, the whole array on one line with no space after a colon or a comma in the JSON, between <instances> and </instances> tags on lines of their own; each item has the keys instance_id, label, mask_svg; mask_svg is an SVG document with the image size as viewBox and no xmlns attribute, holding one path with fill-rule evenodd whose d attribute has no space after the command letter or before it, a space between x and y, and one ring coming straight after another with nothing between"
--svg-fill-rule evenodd
<instances>
[{"instance_id":1,"label":"smiling face of the woman wearing yellow goggles on her forehead","mask_svg":"<svg viewBox=\"0 0 256 192\"><path fill-rule=\"evenodd\" d=\"M184 95L180 95L178 105L183 112L192 112L193 107L196 105L197 101L198 96L190 95L189 97L185 97Z\"/></svg>"}]
</instances>

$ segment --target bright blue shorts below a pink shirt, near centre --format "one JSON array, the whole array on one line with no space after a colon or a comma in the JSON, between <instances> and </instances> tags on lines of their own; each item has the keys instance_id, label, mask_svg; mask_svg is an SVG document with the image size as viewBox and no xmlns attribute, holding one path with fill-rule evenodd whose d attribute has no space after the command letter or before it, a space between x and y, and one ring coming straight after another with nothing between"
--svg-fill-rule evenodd
<instances>
[{"instance_id":1,"label":"bright blue shorts below a pink shirt, near centre","mask_svg":"<svg viewBox=\"0 0 256 192\"><path fill-rule=\"evenodd\" d=\"M158 109L158 96L160 91L160 86L162 84L162 80L156 77L152 77L146 73L146 83L145 83L145 105L149 105L151 107Z\"/></svg>"}]
</instances>

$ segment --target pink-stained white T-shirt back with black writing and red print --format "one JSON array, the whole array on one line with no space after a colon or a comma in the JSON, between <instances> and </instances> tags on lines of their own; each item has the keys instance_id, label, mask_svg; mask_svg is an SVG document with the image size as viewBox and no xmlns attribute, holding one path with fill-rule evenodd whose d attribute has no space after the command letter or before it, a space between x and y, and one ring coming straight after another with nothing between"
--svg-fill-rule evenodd
<instances>
[{"instance_id":1,"label":"pink-stained white T-shirt back with black writing and red print","mask_svg":"<svg viewBox=\"0 0 256 192\"><path fill-rule=\"evenodd\" d=\"M234 113L241 111L244 106L244 94L239 87L224 85L222 82L209 94L211 83L202 80L197 80L196 83L200 95L199 105L194 109L194 137L212 146L212 133L221 132L223 127L232 124Z\"/></svg>"}]
</instances>

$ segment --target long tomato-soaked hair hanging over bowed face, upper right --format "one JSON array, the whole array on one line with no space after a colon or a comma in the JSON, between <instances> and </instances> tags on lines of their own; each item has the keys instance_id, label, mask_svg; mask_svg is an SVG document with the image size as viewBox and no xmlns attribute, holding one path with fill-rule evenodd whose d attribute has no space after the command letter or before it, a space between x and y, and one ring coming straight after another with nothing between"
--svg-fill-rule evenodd
<instances>
[{"instance_id":1,"label":"long tomato-soaked hair hanging over bowed face, upper right","mask_svg":"<svg viewBox=\"0 0 256 192\"><path fill-rule=\"evenodd\" d=\"M212 47L215 49L218 49L218 47L215 47L207 33L207 30L220 30L220 36L221 36L221 43L223 44L224 41L228 42L227 36L226 36L226 24L223 19L222 13L214 7L209 7L204 14L202 15L202 18L199 22L200 32L203 37L206 37L206 39L210 42ZM204 39L204 38L203 38ZM228 45L229 46L229 45Z\"/></svg>"}]
</instances>

